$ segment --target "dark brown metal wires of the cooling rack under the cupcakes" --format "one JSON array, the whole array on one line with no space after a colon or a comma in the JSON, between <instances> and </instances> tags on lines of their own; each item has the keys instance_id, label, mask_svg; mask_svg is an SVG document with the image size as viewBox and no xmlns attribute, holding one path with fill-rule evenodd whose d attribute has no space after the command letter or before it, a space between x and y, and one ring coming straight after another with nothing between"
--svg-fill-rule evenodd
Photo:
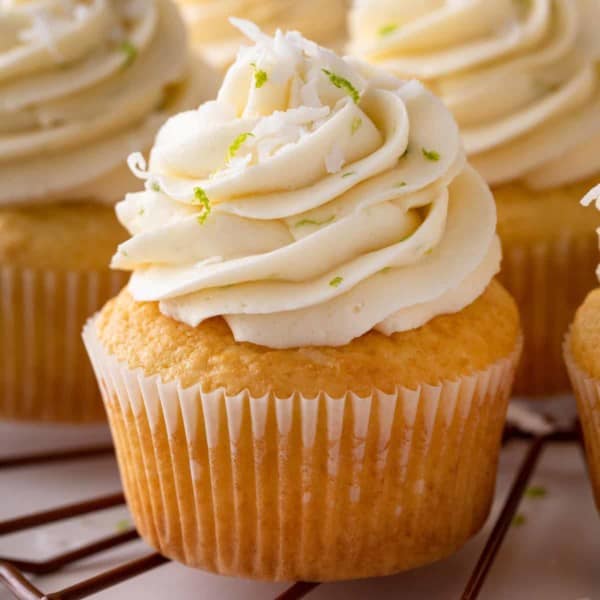
<instances>
[{"instance_id":1,"label":"dark brown metal wires of the cooling rack under the cupcakes","mask_svg":"<svg viewBox=\"0 0 600 600\"><path fill-rule=\"evenodd\" d=\"M516 471L516 475L500 515L498 516L483 551L473 568L471 577L461 596L462 600L475 600L476 598L479 598L483 585L486 582L487 575L494 564L494 560L502 546L506 533L527 490L528 483L548 444L556 442L578 444L583 450L581 434L577 425L574 425L567 430L556 431L540 436L524 434L515 429L507 430L504 436L504 443L509 443L511 440L515 439L525 440L527 442L527 451ZM86 460L98 456L110 455L112 452L113 450L111 447L102 446L55 453L15 456L4 460L0 459L0 471L29 465L50 464L69 460ZM582 457L584 458L583 452ZM0 536L29 530L42 525L48 525L74 516L85 515L119 506L124 503L125 498L122 494L112 494L93 498L92 500L87 500L85 502L65 505L59 508L9 519L0 522ZM157 553L149 553L146 556L126 562L94 577L52 593L46 593L38 589L30 579L28 579L27 574L46 575L53 573L75 561L90 557L110 548L115 548L137 538L137 532L134 529L131 529L129 531L98 539L92 543L81 546L76 550L57 554L49 559L39 562L0 556L0 583L3 583L18 600L76 600L79 598L87 598L92 594L115 586L127 579L160 567L161 565L168 563L169 559ZM297 600L303 598L317 586L319 586L319 583L297 582L277 596L276 600Z\"/></svg>"}]
</instances>

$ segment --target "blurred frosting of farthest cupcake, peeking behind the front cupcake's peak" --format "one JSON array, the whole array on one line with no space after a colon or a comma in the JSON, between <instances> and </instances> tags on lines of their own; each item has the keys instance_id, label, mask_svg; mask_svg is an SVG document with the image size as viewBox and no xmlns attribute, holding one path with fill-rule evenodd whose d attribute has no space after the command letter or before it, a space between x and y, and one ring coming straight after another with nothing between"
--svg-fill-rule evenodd
<instances>
[{"instance_id":1,"label":"blurred frosting of farthest cupcake, peeking behind the front cupcake's peak","mask_svg":"<svg viewBox=\"0 0 600 600\"><path fill-rule=\"evenodd\" d=\"M347 0L177 0L188 23L192 42L215 68L235 60L243 36L229 17L256 22L274 33L297 29L324 46L341 48L346 39Z\"/></svg>"}]
</instances>

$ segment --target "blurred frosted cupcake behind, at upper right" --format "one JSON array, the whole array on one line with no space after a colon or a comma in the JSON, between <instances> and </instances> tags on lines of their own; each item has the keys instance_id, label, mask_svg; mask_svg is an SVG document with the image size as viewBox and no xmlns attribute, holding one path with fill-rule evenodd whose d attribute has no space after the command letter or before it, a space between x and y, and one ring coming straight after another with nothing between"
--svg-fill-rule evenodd
<instances>
[{"instance_id":1,"label":"blurred frosted cupcake behind, at upper right","mask_svg":"<svg viewBox=\"0 0 600 600\"><path fill-rule=\"evenodd\" d=\"M522 394L567 389L562 339L594 287L600 216L578 200L600 174L598 36L588 31L599 10L587 0L357 0L350 17L352 50L437 93L492 186L500 279L523 319Z\"/></svg>"}]
</instances>

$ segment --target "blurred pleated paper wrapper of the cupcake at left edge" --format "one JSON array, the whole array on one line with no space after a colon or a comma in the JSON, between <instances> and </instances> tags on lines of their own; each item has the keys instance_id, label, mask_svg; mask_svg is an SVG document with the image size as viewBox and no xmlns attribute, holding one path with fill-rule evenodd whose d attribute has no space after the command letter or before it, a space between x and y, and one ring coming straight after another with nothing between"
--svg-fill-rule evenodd
<instances>
[{"instance_id":1,"label":"blurred pleated paper wrapper of the cupcake at left edge","mask_svg":"<svg viewBox=\"0 0 600 600\"><path fill-rule=\"evenodd\" d=\"M0 267L0 418L106 418L80 331L125 283L108 269Z\"/></svg>"}]
</instances>

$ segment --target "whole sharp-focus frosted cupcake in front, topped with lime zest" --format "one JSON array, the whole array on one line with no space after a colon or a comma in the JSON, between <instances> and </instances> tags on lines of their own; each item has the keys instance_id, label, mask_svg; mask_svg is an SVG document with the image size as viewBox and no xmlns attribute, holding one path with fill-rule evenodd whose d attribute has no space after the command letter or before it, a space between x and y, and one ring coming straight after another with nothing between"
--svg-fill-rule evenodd
<instances>
[{"instance_id":1,"label":"whole sharp-focus frosted cupcake in front, topped with lime zest","mask_svg":"<svg viewBox=\"0 0 600 600\"><path fill-rule=\"evenodd\" d=\"M136 525L261 579L437 560L488 515L519 355L493 197L420 83L235 23L217 99L131 161L133 274L84 330Z\"/></svg>"}]
</instances>

